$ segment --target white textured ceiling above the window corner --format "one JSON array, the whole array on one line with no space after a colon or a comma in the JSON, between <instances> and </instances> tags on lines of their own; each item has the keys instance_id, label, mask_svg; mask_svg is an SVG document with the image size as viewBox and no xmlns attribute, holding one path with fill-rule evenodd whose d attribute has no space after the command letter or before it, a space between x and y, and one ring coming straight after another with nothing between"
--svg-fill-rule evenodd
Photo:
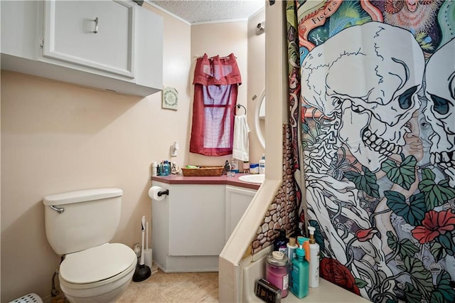
<instances>
[{"instance_id":1,"label":"white textured ceiling above the window corner","mask_svg":"<svg viewBox=\"0 0 455 303\"><path fill-rule=\"evenodd\" d=\"M247 19L265 5L264 0L148 0L189 23Z\"/></svg>"}]
</instances>

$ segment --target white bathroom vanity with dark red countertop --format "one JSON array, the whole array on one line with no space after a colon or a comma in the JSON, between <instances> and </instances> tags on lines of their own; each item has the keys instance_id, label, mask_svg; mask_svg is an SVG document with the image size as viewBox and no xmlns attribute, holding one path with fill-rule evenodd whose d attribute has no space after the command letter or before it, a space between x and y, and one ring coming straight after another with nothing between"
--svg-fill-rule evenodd
<instances>
[{"instance_id":1,"label":"white bathroom vanity with dark red countertop","mask_svg":"<svg viewBox=\"0 0 455 303\"><path fill-rule=\"evenodd\" d=\"M152 199L153 260L164 272L218 271L218 256L259 184L228 176L154 176L168 189Z\"/></svg>"}]
</instances>

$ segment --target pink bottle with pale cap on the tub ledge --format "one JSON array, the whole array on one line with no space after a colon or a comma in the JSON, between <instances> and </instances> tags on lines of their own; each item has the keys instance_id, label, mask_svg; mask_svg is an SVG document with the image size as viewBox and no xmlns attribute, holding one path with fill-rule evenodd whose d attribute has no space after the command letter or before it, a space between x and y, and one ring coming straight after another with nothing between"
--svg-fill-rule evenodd
<instances>
[{"instance_id":1,"label":"pink bottle with pale cap on the tub ledge","mask_svg":"<svg viewBox=\"0 0 455 303\"><path fill-rule=\"evenodd\" d=\"M267 262L265 263L265 280L279 289L282 289L282 298L287 296L289 272L287 267L287 256L282 252L274 251L267 255Z\"/></svg>"}]
</instances>

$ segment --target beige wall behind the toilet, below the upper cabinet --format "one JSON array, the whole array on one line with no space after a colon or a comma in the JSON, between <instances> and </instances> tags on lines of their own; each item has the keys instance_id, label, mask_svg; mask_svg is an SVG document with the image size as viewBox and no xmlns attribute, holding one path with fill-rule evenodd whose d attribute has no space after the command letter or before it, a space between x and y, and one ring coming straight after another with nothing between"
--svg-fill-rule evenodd
<instances>
[{"instance_id":1,"label":"beige wall behind the toilet, below the upper cabinet","mask_svg":"<svg viewBox=\"0 0 455 303\"><path fill-rule=\"evenodd\" d=\"M169 159L178 141L172 161L187 162L191 26L156 13L164 16L164 86L178 90L178 111L161 109L161 93L141 99L2 70L1 302L50 294L59 257L45 238L43 196L122 188L113 240L132 246L141 216L151 220L151 161Z\"/></svg>"}]
</instances>

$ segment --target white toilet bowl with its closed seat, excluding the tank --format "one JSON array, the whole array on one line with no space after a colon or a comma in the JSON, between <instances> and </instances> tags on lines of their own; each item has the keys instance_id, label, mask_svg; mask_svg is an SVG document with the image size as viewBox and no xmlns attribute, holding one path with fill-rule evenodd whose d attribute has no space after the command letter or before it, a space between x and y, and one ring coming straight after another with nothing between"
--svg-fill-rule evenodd
<instances>
[{"instance_id":1,"label":"white toilet bowl with its closed seat, excluding the tank","mask_svg":"<svg viewBox=\"0 0 455 303\"><path fill-rule=\"evenodd\" d=\"M103 244L66 255L60 288L70 302L114 302L132 280L137 255L121 243Z\"/></svg>"}]
</instances>

